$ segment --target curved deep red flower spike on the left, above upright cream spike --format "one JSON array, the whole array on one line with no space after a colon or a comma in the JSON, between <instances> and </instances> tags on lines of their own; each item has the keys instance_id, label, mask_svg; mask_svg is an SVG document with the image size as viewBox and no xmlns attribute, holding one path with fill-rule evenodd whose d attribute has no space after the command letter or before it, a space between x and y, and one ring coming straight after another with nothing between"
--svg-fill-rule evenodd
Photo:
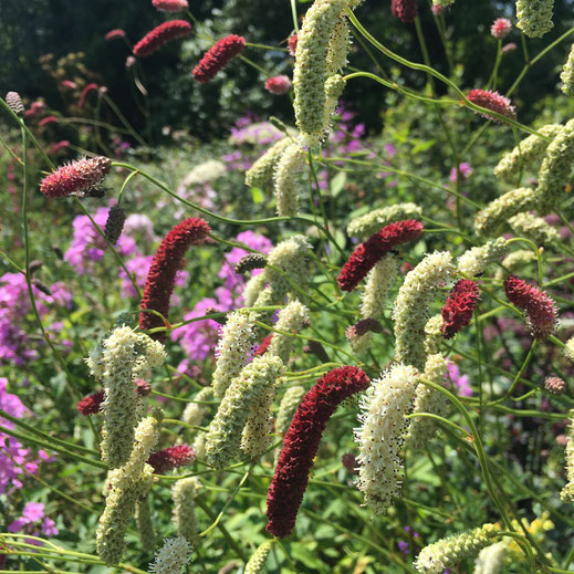
<instances>
[{"instance_id":1,"label":"curved deep red flower spike on the left, above upright cream spike","mask_svg":"<svg viewBox=\"0 0 574 574\"><path fill-rule=\"evenodd\" d=\"M184 255L190 246L201 243L209 231L211 229L206 221L191 217L178 223L161 241L147 274L139 313L140 328L164 325L161 317L148 311L156 311L167 319L176 273L184 264ZM154 333L152 337L164 342L166 334Z\"/></svg>"}]
</instances>

